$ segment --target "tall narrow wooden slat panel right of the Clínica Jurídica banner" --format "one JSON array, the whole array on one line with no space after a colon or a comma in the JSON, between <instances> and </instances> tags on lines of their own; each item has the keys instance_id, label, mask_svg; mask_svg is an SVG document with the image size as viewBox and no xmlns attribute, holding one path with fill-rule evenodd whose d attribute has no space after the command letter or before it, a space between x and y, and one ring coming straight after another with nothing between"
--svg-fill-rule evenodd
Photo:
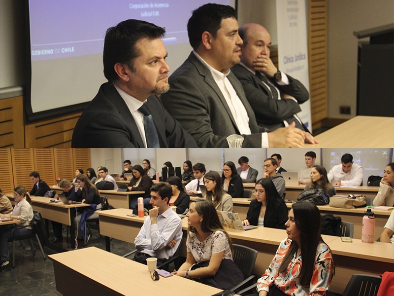
<instances>
[{"instance_id":1,"label":"tall narrow wooden slat panel right of the Cl\u00ednica Jur\u00eddica banner","mask_svg":"<svg viewBox=\"0 0 394 296\"><path fill-rule=\"evenodd\" d=\"M312 124L328 116L327 10L328 0L309 0L308 55Z\"/></svg>"}]
</instances>

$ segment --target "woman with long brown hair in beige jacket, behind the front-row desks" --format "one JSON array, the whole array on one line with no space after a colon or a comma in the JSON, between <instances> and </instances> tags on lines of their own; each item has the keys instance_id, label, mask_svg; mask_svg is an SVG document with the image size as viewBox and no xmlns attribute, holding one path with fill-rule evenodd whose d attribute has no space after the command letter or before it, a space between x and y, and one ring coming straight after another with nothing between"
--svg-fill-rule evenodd
<instances>
[{"instance_id":1,"label":"woman with long brown hair in beige jacket, behind the front-row desks","mask_svg":"<svg viewBox=\"0 0 394 296\"><path fill-rule=\"evenodd\" d=\"M232 212L232 197L222 186L218 172L212 171L204 176L206 199L211 201L217 211Z\"/></svg>"}]
</instances>

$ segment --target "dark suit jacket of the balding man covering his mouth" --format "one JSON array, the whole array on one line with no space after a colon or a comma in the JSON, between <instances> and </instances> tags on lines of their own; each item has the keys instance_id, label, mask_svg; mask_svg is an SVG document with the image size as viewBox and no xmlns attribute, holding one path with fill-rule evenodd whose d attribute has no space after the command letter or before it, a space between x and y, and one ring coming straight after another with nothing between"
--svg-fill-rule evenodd
<instances>
[{"instance_id":1,"label":"dark suit jacket of the balding man covering his mouth","mask_svg":"<svg viewBox=\"0 0 394 296\"><path fill-rule=\"evenodd\" d=\"M287 75L289 85L279 85L274 79L271 79L271 82L279 89L281 97L286 93L295 97L298 103L292 99L274 100L262 80L242 65L235 65L231 68L231 72L241 82L246 98L253 106L259 126L268 129L279 124L283 126L283 120L301 111L298 104L302 104L309 99L309 93L305 86L289 75Z\"/></svg>"}]
</instances>

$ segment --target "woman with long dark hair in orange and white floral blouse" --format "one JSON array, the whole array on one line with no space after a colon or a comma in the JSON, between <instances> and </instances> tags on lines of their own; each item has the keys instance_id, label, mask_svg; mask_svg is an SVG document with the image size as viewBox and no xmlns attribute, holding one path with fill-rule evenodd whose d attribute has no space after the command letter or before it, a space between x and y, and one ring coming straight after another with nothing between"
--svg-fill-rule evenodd
<instances>
[{"instance_id":1,"label":"woman with long dark hair in orange and white floral blouse","mask_svg":"<svg viewBox=\"0 0 394 296\"><path fill-rule=\"evenodd\" d=\"M308 201L293 204L286 232L288 237L257 282L259 296L326 295L334 262L320 235L319 209Z\"/></svg>"}]
</instances>

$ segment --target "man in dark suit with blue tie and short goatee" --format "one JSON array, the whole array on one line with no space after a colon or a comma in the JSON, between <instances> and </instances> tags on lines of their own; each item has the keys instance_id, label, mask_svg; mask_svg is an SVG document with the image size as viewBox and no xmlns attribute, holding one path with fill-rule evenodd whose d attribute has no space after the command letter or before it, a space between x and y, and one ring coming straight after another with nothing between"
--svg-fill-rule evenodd
<instances>
[{"instance_id":1,"label":"man in dark suit with blue tie and short goatee","mask_svg":"<svg viewBox=\"0 0 394 296\"><path fill-rule=\"evenodd\" d=\"M108 82L78 119L72 147L197 147L156 96L169 88L164 33L138 20L107 30L103 63Z\"/></svg>"}]
</instances>

